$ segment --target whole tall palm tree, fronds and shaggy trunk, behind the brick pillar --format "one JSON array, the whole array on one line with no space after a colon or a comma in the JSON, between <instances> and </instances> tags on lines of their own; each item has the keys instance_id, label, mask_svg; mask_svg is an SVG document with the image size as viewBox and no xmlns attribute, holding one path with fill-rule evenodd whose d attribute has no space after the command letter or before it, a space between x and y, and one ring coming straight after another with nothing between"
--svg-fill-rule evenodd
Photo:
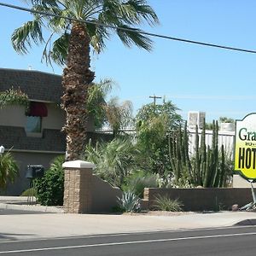
<instances>
[{"instance_id":1,"label":"whole tall palm tree, fronds and shaggy trunk, behind the brick pillar","mask_svg":"<svg viewBox=\"0 0 256 256\"><path fill-rule=\"evenodd\" d=\"M90 45L100 53L105 40L116 32L125 45L136 44L150 50L152 42L140 30L124 29L141 25L143 21L154 25L158 23L158 17L147 0L26 0L26 3L42 14L32 13L34 19L15 30L13 46L25 54L32 42L45 44L44 60L66 65L62 79L62 108L67 119L63 130L67 133L67 160L77 160L86 138L88 114L84 101L95 77L90 71ZM43 36L44 27L50 31L47 40Z\"/></svg>"}]
</instances>

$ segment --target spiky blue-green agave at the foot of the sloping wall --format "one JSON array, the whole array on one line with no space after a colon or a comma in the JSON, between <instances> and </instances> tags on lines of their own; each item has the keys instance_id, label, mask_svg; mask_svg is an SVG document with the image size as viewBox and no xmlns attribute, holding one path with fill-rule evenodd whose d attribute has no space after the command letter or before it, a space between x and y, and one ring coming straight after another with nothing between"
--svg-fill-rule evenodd
<instances>
[{"instance_id":1,"label":"spiky blue-green agave at the foot of the sloping wall","mask_svg":"<svg viewBox=\"0 0 256 256\"><path fill-rule=\"evenodd\" d=\"M140 199L132 192L123 192L122 198L118 198L118 204L122 212L139 212Z\"/></svg>"}]
</instances>

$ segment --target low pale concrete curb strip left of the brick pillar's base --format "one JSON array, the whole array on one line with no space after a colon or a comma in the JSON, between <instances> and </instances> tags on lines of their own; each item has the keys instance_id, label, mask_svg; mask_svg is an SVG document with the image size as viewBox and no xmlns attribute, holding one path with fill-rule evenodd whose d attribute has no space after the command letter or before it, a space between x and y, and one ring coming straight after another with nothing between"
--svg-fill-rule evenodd
<instances>
[{"instance_id":1,"label":"low pale concrete curb strip left of the brick pillar's base","mask_svg":"<svg viewBox=\"0 0 256 256\"><path fill-rule=\"evenodd\" d=\"M64 213L63 207L43 207L32 205L16 205L0 203L0 209L6 210L23 210L32 212L49 212L49 213Z\"/></svg>"}]
</instances>

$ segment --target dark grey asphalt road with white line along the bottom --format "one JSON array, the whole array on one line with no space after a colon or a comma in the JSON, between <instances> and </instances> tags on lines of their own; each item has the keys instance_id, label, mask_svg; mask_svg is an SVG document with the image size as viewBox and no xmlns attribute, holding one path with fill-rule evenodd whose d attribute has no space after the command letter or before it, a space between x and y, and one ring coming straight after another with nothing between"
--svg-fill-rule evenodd
<instances>
[{"instance_id":1,"label":"dark grey asphalt road with white line along the bottom","mask_svg":"<svg viewBox=\"0 0 256 256\"><path fill-rule=\"evenodd\" d=\"M255 255L256 227L1 241L0 255Z\"/></svg>"}]
</instances>

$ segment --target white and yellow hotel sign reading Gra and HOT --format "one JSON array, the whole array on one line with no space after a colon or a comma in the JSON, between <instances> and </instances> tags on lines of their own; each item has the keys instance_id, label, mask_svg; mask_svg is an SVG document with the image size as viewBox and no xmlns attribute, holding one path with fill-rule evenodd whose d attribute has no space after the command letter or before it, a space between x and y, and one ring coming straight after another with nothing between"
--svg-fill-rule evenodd
<instances>
[{"instance_id":1,"label":"white and yellow hotel sign reading Gra and HOT","mask_svg":"<svg viewBox=\"0 0 256 256\"><path fill-rule=\"evenodd\" d=\"M256 182L256 113L236 120L235 173Z\"/></svg>"}]
</instances>

